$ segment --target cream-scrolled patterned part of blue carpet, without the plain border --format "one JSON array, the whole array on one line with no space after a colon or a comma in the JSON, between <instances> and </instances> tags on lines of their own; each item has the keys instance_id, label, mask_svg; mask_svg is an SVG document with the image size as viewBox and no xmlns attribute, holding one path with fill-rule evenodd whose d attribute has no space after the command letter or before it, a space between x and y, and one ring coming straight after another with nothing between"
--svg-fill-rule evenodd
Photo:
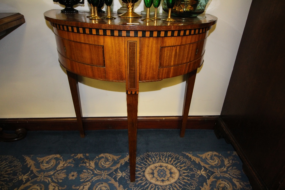
<instances>
[{"instance_id":1,"label":"cream-scrolled patterned part of blue carpet, without the plain border","mask_svg":"<svg viewBox=\"0 0 285 190\"><path fill-rule=\"evenodd\" d=\"M129 177L126 153L0 156L1 190L252 189L235 152L148 152Z\"/></svg>"}]
</instances>

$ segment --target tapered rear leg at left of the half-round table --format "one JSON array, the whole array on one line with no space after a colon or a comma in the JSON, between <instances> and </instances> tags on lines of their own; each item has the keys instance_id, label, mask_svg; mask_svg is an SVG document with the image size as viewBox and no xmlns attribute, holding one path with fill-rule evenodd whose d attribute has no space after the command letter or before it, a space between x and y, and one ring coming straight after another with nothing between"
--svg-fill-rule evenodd
<instances>
[{"instance_id":1,"label":"tapered rear leg at left of the half-round table","mask_svg":"<svg viewBox=\"0 0 285 190\"><path fill-rule=\"evenodd\" d=\"M82 122L82 110L81 110L81 103L80 103L80 95L79 95L79 88L78 88L78 80L77 75L66 70L69 87L71 91L72 101L74 105L74 110L77 119L78 130L80 132L80 136L84 137L84 129L83 129L83 122Z\"/></svg>"}]
</instances>

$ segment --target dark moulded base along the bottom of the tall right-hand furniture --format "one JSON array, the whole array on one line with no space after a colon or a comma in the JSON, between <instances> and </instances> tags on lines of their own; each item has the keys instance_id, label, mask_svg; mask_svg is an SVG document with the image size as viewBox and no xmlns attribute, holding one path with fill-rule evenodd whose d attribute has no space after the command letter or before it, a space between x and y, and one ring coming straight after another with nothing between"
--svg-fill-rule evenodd
<instances>
[{"instance_id":1,"label":"dark moulded base along the bottom of the tall right-hand furniture","mask_svg":"<svg viewBox=\"0 0 285 190\"><path fill-rule=\"evenodd\" d=\"M249 182L251 183L253 190L267 189L261 177L258 175L257 171L252 166L251 162L249 161L249 159L241 149L237 140L230 132L230 130L227 128L227 125L223 121L222 117L218 117L216 125L214 127L214 132L218 139L224 138L227 143L231 143L232 146L235 148L237 154L239 155L239 157L243 162L243 171L249 178Z\"/></svg>"}]
</instances>

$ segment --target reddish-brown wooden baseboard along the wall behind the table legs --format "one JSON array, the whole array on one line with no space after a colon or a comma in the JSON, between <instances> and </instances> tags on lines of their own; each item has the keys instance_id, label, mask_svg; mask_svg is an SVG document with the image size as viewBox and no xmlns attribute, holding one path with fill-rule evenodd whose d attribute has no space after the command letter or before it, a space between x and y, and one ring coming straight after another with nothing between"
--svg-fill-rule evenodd
<instances>
[{"instance_id":1,"label":"reddish-brown wooden baseboard along the wall behind the table legs","mask_svg":"<svg viewBox=\"0 0 285 190\"><path fill-rule=\"evenodd\" d=\"M214 129L219 116L189 116L187 129ZM76 118L0 119L3 130L77 130ZM84 117L84 130L127 129L127 117ZM180 129L182 117L138 117L138 129Z\"/></svg>"}]
</instances>

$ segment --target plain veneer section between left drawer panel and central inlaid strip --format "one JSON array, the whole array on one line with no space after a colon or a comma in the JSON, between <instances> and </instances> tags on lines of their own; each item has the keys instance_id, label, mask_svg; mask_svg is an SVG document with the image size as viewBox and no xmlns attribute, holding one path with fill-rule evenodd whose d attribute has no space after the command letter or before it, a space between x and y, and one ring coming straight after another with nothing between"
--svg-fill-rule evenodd
<instances>
[{"instance_id":1,"label":"plain veneer section between left drawer panel and central inlaid strip","mask_svg":"<svg viewBox=\"0 0 285 190\"><path fill-rule=\"evenodd\" d=\"M104 36L104 54L106 78L110 81L126 81L124 37Z\"/></svg>"}]
</instances>

